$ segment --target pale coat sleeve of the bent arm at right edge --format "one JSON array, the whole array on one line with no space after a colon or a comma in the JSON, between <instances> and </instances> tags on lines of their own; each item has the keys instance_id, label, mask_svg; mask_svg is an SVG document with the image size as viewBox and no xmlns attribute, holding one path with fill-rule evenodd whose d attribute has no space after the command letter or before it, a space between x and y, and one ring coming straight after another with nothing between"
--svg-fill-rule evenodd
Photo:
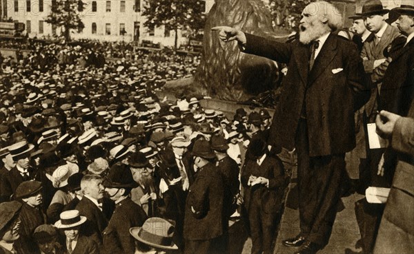
<instances>
[{"instance_id":1,"label":"pale coat sleeve of the bent arm at right edge","mask_svg":"<svg viewBox=\"0 0 414 254\"><path fill-rule=\"evenodd\" d=\"M414 118L400 118L395 123L391 145L393 149L414 156Z\"/></svg>"}]
</instances>

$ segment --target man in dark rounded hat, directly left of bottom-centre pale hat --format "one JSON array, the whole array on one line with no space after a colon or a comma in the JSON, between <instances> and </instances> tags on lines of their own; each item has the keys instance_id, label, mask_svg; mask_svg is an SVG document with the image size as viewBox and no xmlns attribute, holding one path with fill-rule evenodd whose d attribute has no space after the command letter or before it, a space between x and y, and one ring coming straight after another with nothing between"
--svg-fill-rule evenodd
<instances>
[{"instance_id":1,"label":"man in dark rounded hat, directly left of bottom-centre pale hat","mask_svg":"<svg viewBox=\"0 0 414 254\"><path fill-rule=\"evenodd\" d=\"M138 187L127 165L115 164L103 181L106 193L115 202L115 211L108 226L103 231L103 253L134 253L135 240L129 229L142 226L147 215L145 211L130 198L130 191Z\"/></svg>"}]
</instances>

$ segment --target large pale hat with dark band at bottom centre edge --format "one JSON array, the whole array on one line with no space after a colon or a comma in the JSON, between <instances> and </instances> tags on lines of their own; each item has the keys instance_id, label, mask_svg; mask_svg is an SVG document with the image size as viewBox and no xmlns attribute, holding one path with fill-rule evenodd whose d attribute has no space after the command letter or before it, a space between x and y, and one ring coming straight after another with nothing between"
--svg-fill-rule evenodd
<instances>
[{"instance_id":1,"label":"large pale hat with dark band at bottom centre edge","mask_svg":"<svg viewBox=\"0 0 414 254\"><path fill-rule=\"evenodd\" d=\"M177 250L172 242L175 226L163 218L148 218L144 225L130 228L130 234L139 242L163 250Z\"/></svg>"}]
</instances>

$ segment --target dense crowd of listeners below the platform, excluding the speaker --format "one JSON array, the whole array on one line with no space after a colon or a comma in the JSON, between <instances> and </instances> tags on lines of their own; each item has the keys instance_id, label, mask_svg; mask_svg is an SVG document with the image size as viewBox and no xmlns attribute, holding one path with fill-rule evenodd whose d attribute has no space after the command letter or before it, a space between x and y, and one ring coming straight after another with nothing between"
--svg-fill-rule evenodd
<instances>
[{"instance_id":1,"label":"dense crowd of listeners below the platform, excluding the speaker","mask_svg":"<svg viewBox=\"0 0 414 254\"><path fill-rule=\"evenodd\" d=\"M85 61L95 53L52 43L2 63L0 250L228 253L230 217L245 209L270 249L288 176L264 141L269 112L154 94L198 56Z\"/></svg>"}]
</instances>

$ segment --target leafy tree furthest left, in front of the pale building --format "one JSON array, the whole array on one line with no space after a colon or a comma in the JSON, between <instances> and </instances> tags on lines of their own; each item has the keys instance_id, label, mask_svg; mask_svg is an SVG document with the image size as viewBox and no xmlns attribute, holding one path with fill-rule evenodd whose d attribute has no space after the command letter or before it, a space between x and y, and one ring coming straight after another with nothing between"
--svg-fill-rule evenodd
<instances>
[{"instance_id":1,"label":"leafy tree furthest left, in front of the pale building","mask_svg":"<svg viewBox=\"0 0 414 254\"><path fill-rule=\"evenodd\" d=\"M85 3L81 0L52 1L52 11L46 18L46 23L63 28L65 39L69 41L70 30L82 30L85 27L80 17L84 6Z\"/></svg>"}]
</instances>

